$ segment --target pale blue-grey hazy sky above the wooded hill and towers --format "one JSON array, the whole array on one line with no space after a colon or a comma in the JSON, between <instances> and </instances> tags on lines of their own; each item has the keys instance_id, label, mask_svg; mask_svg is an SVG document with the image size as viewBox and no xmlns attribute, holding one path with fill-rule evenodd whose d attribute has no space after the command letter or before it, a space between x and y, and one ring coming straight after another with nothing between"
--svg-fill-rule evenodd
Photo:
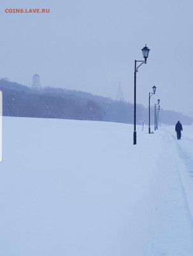
<instances>
[{"instance_id":1,"label":"pale blue-grey hazy sky above the wooded hill and towers","mask_svg":"<svg viewBox=\"0 0 193 256\"><path fill-rule=\"evenodd\" d=\"M121 81L133 102L193 116L192 0L1 0L0 77L27 86L82 90L115 99ZM6 8L50 8L50 13L5 13Z\"/></svg>"}]
</instances>

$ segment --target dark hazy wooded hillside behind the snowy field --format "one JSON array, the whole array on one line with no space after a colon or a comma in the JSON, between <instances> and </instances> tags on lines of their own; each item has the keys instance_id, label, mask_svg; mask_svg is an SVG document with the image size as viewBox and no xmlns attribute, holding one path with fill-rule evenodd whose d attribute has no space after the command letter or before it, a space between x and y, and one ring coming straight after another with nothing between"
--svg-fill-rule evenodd
<instances>
[{"instance_id":1,"label":"dark hazy wooded hillside behind the snowy field","mask_svg":"<svg viewBox=\"0 0 193 256\"><path fill-rule=\"evenodd\" d=\"M3 92L3 115L39 118L62 118L74 120L97 120L133 124L133 104L116 101L110 98L92 95L85 92L61 88L43 88L41 91L0 80ZM148 124L148 109L142 105L136 108L137 124ZM151 108L154 124L154 108ZM159 123L192 124L193 119L175 111L160 110Z\"/></svg>"}]
</instances>

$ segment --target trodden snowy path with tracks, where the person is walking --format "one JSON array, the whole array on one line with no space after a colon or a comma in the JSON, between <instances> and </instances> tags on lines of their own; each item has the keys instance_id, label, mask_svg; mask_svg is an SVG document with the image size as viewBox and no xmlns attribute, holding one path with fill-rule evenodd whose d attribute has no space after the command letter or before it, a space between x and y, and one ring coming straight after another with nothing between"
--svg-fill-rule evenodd
<instances>
[{"instance_id":1,"label":"trodden snowy path with tracks, where the person is walking","mask_svg":"<svg viewBox=\"0 0 193 256\"><path fill-rule=\"evenodd\" d=\"M162 129L163 146L159 161L158 198L150 255L193 253L192 141L176 140L171 129ZM189 147L189 150L187 149Z\"/></svg>"}]
</instances>

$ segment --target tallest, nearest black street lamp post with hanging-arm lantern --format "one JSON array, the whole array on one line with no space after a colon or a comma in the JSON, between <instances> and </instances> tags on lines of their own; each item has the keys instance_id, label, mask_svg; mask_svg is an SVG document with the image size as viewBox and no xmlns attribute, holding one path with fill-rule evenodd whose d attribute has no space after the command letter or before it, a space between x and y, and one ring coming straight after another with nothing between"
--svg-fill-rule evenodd
<instances>
[{"instance_id":1,"label":"tallest, nearest black street lamp post with hanging-arm lantern","mask_svg":"<svg viewBox=\"0 0 193 256\"><path fill-rule=\"evenodd\" d=\"M135 60L134 61L134 132L133 132L133 145L137 143L137 132L136 132L136 73L138 72L138 68L143 64L147 63L147 58L150 49L148 49L147 45L141 49L143 52L143 58L145 61ZM141 64L137 67L137 62L141 62Z\"/></svg>"}]
</instances>

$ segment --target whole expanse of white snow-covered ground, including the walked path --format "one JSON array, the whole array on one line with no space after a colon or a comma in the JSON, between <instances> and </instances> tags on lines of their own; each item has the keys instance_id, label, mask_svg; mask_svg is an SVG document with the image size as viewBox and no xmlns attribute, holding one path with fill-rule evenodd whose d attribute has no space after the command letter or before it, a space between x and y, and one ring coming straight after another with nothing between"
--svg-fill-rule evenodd
<instances>
[{"instance_id":1,"label":"whole expanse of white snow-covered ground, including the walked path","mask_svg":"<svg viewBox=\"0 0 193 256\"><path fill-rule=\"evenodd\" d=\"M192 256L193 134L3 118L2 256Z\"/></svg>"}]
</instances>

